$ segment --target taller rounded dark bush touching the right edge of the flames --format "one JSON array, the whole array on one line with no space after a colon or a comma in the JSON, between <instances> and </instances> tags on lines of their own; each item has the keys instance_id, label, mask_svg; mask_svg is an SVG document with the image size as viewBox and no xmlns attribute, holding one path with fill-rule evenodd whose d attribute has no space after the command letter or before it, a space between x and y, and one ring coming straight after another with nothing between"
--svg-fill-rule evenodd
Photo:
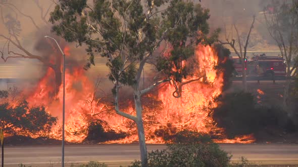
<instances>
[{"instance_id":1,"label":"taller rounded dark bush touching the right edge of the flames","mask_svg":"<svg viewBox=\"0 0 298 167\"><path fill-rule=\"evenodd\" d=\"M254 97L250 93L231 93L216 99L213 119L225 128L227 136L251 134L258 128L259 113L255 109Z\"/></svg>"}]
</instances>

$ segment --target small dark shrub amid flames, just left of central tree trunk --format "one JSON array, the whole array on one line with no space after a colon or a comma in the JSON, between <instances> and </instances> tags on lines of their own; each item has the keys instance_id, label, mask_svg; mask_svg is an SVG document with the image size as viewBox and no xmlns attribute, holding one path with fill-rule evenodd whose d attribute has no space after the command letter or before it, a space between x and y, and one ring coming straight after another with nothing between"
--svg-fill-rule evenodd
<instances>
[{"instance_id":1,"label":"small dark shrub amid flames, just left of central tree trunk","mask_svg":"<svg viewBox=\"0 0 298 167\"><path fill-rule=\"evenodd\" d=\"M108 125L102 120L90 121L87 129L87 137L84 139L84 141L105 142L126 137L126 133L117 133L115 130L109 128L107 128L109 130L105 130L104 126Z\"/></svg>"}]
</instances>

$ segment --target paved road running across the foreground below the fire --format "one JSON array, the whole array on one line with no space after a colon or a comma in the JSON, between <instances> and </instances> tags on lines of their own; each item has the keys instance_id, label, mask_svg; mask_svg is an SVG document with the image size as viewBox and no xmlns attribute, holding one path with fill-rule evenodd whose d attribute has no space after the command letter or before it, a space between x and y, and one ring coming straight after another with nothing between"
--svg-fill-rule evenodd
<instances>
[{"instance_id":1,"label":"paved road running across the foreground below the fire","mask_svg":"<svg viewBox=\"0 0 298 167\"><path fill-rule=\"evenodd\" d=\"M262 164L298 164L298 145L289 144L221 144L233 154L232 160L241 156ZM150 144L148 150L163 149L165 145ZM32 166L59 166L60 146L7 146L5 166L17 166L20 162ZM109 166L129 164L139 158L137 144L68 145L65 162L87 162L97 160Z\"/></svg>"}]
</instances>

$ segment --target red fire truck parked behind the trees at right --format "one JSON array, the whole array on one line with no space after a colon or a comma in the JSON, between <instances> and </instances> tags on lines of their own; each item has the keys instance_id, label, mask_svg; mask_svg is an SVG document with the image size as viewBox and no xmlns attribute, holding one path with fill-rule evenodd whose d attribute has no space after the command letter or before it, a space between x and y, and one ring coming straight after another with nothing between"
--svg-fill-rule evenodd
<instances>
[{"instance_id":1,"label":"red fire truck parked behind the trees at right","mask_svg":"<svg viewBox=\"0 0 298 167\"><path fill-rule=\"evenodd\" d=\"M242 64L239 58L233 59L235 74L242 75ZM279 56L266 56L265 54L254 55L252 60L245 60L247 76L285 76L286 65Z\"/></svg>"}]
</instances>

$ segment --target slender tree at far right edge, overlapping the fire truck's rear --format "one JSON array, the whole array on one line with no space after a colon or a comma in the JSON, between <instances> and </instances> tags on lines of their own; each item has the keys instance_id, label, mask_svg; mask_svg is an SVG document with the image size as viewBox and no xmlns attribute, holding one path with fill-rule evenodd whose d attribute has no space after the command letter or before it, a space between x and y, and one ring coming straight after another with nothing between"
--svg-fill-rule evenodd
<instances>
[{"instance_id":1,"label":"slender tree at far right edge, overlapping the fire truck's rear","mask_svg":"<svg viewBox=\"0 0 298 167\"><path fill-rule=\"evenodd\" d=\"M283 93L283 109L291 115L290 106L290 84L291 74L296 73L298 66L298 16L296 8L298 1L292 0L287 3L272 1L271 12L264 12L266 25L270 36L275 40L279 47L281 56L286 64L286 84Z\"/></svg>"}]
</instances>

